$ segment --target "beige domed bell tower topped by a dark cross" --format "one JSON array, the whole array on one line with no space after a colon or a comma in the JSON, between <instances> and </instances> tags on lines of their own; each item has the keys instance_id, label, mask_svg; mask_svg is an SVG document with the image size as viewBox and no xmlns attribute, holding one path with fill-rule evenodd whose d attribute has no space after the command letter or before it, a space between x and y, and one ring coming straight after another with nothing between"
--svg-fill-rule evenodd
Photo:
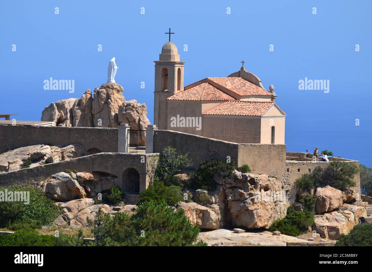
<instances>
[{"instance_id":1,"label":"beige domed bell tower topped by a dark cross","mask_svg":"<svg viewBox=\"0 0 372 272\"><path fill-rule=\"evenodd\" d=\"M159 129L168 129L168 103L167 98L183 91L183 64L180 61L177 47L170 42L163 45L159 60L155 62L155 88L154 88L154 124Z\"/></svg>"}]
</instances>

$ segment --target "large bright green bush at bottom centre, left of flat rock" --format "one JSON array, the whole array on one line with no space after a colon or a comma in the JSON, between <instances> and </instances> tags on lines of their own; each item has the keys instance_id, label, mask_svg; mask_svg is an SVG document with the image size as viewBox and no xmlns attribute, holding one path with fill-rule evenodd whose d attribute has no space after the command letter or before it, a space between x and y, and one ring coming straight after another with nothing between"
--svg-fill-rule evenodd
<instances>
[{"instance_id":1,"label":"large bright green bush at bottom centre, left of flat rock","mask_svg":"<svg viewBox=\"0 0 372 272\"><path fill-rule=\"evenodd\" d=\"M116 213L111 226L104 243L116 246L192 246L200 231L182 209L174 211L166 203L153 202L140 205L133 216Z\"/></svg>"}]
</instances>

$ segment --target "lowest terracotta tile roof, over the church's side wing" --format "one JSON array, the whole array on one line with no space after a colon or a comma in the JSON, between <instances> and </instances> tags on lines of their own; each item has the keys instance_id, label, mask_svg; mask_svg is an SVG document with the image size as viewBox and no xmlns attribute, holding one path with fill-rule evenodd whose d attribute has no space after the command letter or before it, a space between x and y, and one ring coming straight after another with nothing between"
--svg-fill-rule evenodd
<instances>
[{"instance_id":1,"label":"lowest terracotta tile roof, over the church's side wing","mask_svg":"<svg viewBox=\"0 0 372 272\"><path fill-rule=\"evenodd\" d=\"M263 116L274 102L247 102L247 101L226 101L218 106L204 111L203 114L212 115L242 115L242 116Z\"/></svg>"}]
</instances>

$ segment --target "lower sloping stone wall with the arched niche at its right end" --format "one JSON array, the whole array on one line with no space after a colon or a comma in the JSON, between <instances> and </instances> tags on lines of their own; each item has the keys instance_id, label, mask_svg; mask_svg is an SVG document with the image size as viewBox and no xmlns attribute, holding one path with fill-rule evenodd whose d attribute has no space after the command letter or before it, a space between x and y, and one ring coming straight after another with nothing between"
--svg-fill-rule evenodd
<instances>
[{"instance_id":1,"label":"lower sloping stone wall with the arched niche at its right end","mask_svg":"<svg viewBox=\"0 0 372 272\"><path fill-rule=\"evenodd\" d=\"M77 169L79 172L106 172L125 182L124 171L134 168L140 174L140 192L153 180L158 154L98 153L67 161L49 163L32 168L0 174L0 187L13 184L38 186L49 176L65 169ZM121 184L123 185L123 184Z\"/></svg>"}]
</instances>

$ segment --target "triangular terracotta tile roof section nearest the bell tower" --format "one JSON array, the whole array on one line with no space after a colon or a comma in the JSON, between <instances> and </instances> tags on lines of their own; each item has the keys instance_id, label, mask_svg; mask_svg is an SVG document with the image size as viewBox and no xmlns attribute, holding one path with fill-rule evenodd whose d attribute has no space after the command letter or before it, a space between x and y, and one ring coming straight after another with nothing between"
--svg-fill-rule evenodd
<instances>
[{"instance_id":1,"label":"triangular terracotta tile roof section nearest the bell tower","mask_svg":"<svg viewBox=\"0 0 372 272\"><path fill-rule=\"evenodd\" d=\"M172 95L171 97L168 97L167 99L168 100L203 100L203 101L234 100L233 97L218 90L216 87L212 86L209 83L199 84L188 90L184 90L175 95Z\"/></svg>"}]
</instances>

